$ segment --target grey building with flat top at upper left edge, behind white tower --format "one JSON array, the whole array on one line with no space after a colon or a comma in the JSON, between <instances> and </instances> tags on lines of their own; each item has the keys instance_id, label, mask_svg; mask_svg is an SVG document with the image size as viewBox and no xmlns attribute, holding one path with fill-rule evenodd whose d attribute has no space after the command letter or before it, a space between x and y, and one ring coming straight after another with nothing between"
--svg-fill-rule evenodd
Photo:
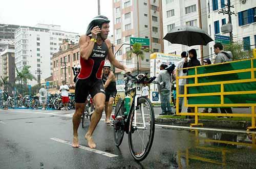
<instances>
[{"instance_id":1,"label":"grey building with flat top at upper left edge, behind white tower","mask_svg":"<svg viewBox=\"0 0 256 169\"><path fill-rule=\"evenodd\" d=\"M19 25L0 24L0 53L8 46L14 43L14 32Z\"/></svg>"}]
</instances>

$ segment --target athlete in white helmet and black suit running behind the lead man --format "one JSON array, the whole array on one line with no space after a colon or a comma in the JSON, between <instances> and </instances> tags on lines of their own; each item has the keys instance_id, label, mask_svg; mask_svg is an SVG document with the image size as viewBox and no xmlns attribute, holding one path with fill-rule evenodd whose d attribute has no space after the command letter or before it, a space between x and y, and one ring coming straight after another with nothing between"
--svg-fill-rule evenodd
<instances>
[{"instance_id":1,"label":"athlete in white helmet and black suit running behind the lead man","mask_svg":"<svg viewBox=\"0 0 256 169\"><path fill-rule=\"evenodd\" d=\"M106 119L105 123L110 124L110 116L113 108L113 102L116 98L116 78L112 71L110 71L111 64L109 61L105 61L103 67L103 74L102 74L102 81L104 84L104 89L106 93L106 100L105 100L105 114Z\"/></svg>"}]
</instances>

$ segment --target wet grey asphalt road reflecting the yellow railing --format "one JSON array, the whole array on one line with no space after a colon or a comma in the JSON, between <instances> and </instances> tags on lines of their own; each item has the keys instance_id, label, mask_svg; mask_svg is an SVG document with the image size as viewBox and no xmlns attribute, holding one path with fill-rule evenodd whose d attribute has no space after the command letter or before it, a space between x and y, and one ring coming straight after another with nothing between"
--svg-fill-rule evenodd
<instances>
[{"instance_id":1,"label":"wet grey asphalt road reflecting the yellow railing","mask_svg":"<svg viewBox=\"0 0 256 169\"><path fill-rule=\"evenodd\" d=\"M113 129L99 123L97 150L117 157L74 149L68 111L0 110L0 168L256 168L255 134L170 129L157 125L150 154L136 162L127 134L119 148ZM79 127L81 146L87 146ZM51 138L58 138L64 143Z\"/></svg>"}]
</instances>

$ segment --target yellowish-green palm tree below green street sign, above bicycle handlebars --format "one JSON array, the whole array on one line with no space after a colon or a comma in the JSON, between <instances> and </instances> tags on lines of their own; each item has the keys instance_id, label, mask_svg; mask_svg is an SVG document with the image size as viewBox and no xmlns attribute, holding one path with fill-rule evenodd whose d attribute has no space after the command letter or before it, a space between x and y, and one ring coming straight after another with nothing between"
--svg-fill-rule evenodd
<instances>
[{"instance_id":1,"label":"yellowish-green palm tree below green street sign, above bicycle handlebars","mask_svg":"<svg viewBox=\"0 0 256 169\"><path fill-rule=\"evenodd\" d=\"M143 48L140 43L133 44L132 50L126 51L127 59L132 58L132 54L134 53L137 56L137 72L139 74L139 58L143 61L145 58L144 52L152 52L148 48Z\"/></svg>"}]
</instances>

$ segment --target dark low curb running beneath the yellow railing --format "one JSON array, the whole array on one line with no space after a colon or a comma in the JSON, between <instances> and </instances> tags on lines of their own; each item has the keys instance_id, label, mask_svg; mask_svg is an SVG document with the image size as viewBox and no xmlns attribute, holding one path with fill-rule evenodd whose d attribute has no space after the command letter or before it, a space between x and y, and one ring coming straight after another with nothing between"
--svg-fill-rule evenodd
<instances>
[{"instance_id":1,"label":"dark low curb running beneath the yellow railing","mask_svg":"<svg viewBox=\"0 0 256 169\"><path fill-rule=\"evenodd\" d=\"M156 124L167 124L177 126L190 126L191 123L195 123L195 119L170 119L170 118L155 118ZM251 126L251 122L246 121L231 121L231 120L199 120L199 123L203 123L203 127L214 128L227 128L227 129L243 129Z\"/></svg>"}]
</instances>

